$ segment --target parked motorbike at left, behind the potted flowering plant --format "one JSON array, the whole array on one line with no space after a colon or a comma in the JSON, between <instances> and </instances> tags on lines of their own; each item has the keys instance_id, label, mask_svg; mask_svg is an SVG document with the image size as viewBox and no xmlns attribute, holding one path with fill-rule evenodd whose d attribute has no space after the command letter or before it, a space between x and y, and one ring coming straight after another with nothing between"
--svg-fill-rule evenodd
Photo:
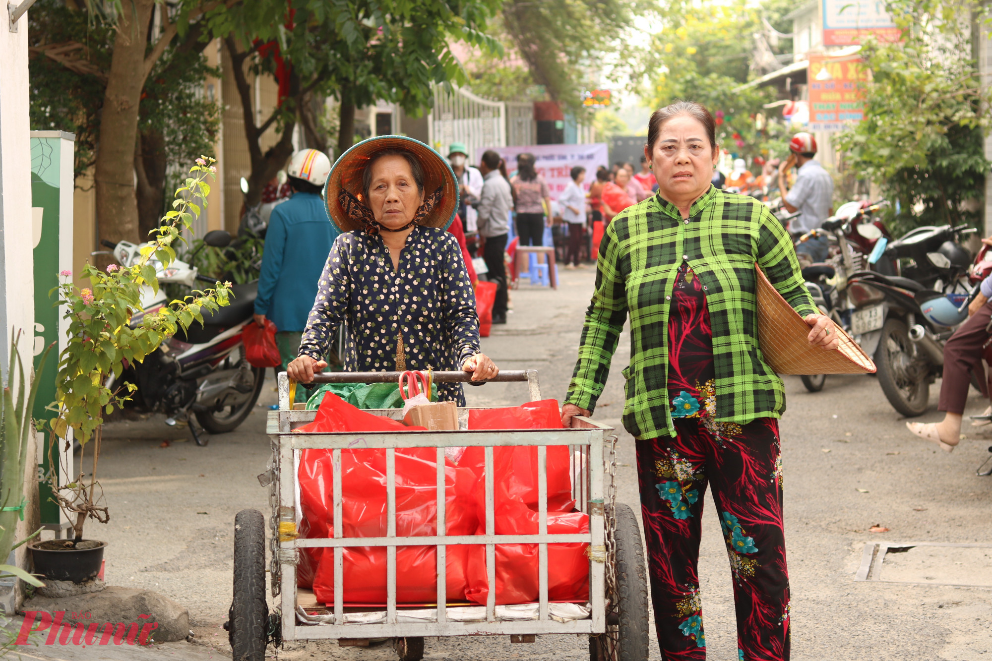
<instances>
[{"instance_id":1,"label":"parked motorbike at left, behind the potted flowering plant","mask_svg":"<svg viewBox=\"0 0 992 661\"><path fill-rule=\"evenodd\" d=\"M225 247L231 241L226 231L214 230L203 237L203 244ZM141 248L128 241L103 242L110 247L121 266L131 266L141 258ZM196 267L174 261L168 269L152 260L160 284L180 283L193 287L196 281L215 279L197 273ZM233 431L244 422L258 400L265 380L265 370L253 367L245 359L241 331L251 324L258 283L234 285L229 306L215 313L203 313L203 324L194 322L187 331L179 331L145 356L143 362L130 363L117 381L130 382L138 389L131 394L129 407L140 411L164 413L167 425L186 420L193 440L205 446L207 440L197 429L213 434ZM168 304L163 289L158 293L146 287L142 293L142 310L131 318L136 327L145 315ZM107 387L112 388L111 376Z\"/></svg>"}]
</instances>

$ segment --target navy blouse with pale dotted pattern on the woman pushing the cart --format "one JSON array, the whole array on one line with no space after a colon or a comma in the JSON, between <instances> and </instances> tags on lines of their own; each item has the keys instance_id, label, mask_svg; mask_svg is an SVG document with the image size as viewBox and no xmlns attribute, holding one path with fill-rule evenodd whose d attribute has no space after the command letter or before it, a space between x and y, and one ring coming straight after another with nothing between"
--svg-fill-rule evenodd
<instances>
[{"instance_id":1,"label":"navy blouse with pale dotted pattern on the woman pushing the cart","mask_svg":"<svg viewBox=\"0 0 992 661\"><path fill-rule=\"evenodd\" d=\"M461 249L436 227L414 227L393 270L381 236L356 230L334 240L320 275L300 355L320 360L335 331L348 330L344 368L456 370L479 353L479 323ZM402 334L405 365L397 365ZM438 383L437 399L464 406L460 383Z\"/></svg>"}]
</instances>

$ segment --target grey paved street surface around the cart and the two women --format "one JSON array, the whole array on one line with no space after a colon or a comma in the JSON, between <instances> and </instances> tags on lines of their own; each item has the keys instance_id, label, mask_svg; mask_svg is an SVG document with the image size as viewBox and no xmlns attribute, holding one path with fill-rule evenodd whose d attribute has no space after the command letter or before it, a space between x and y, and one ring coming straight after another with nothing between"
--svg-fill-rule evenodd
<instances>
[{"instance_id":1,"label":"grey paved street surface around the cart and the two women","mask_svg":"<svg viewBox=\"0 0 992 661\"><path fill-rule=\"evenodd\" d=\"M558 399L573 366L593 271L562 270L560 275L557 292L514 292L509 324L494 327L493 336L483 339L484 350L502 368L539 369L543 392ZM620 370L628 355L625 336L595 414L618 429ZM990 588L855 582L866 543L992 543L992 477L975 475L992 437L971 433L965 423L968 438L961 446L951 455L937 452L906 432L874 377L831 376L815 394L806 393L799 377L787 377L786 385L789 411L782 435L793 658L992 659ZM921 420L937 420L937 388L931 387L931 410ZM488 384L468 388L467 395L469 405L509 405L523 401L526 390L524 384ZM269 384L265 397L263 403L275 400ZM983 408L973 396L967 413ZM207 448L186 442L158 418L118 423L105 433L100 469L111 522L90 524L87 534L110 543L107 581L155 590L185 604L196 644L116 649L112 654L35 648L26 658L199 659L229 654L219 626L231 595L233 519L244 507L267 511L265 492L255 478L269 454L264 423L265 410L259 407L238 432L214 437ZM633 442L622 429L619 463L619 499L636 505ZM707 653L710 659L733 661L737 645L730 573L708 496L707 501L700 558ZM876 524L889 531L869 532ZM903 563L901 580L927 583L930 577L930 583L938 583L954 576L958 579L945 582L992 583L992 549L933 549L929 565L917 560L917 551L891 556L893 563ZM921 569L925 566L926 571ZM426 658L577 660L588 658L587 650L586 641L575 637L546 636L531 645L511 645L502 638L431 639ZM314 643L287 645L279 657L379 661L395 655L388 646ZM660 658L655 643L652 658Z\"/></svg>"}]
</instances>

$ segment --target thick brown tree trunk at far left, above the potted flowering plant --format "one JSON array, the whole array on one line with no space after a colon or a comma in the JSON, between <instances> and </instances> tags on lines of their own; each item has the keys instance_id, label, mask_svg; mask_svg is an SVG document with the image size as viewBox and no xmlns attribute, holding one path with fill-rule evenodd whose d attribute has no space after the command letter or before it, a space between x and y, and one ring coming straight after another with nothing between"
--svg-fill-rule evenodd
<instances>
[{"instance_id":1,"label":"thick brown tree trunk at far left, above the potted flowering plant","mask_svg":"<svg viewBox=\"0 0 992 661\"><path fill-rule=\"evenodd\" d=\"M146 30L155 0L124 0L103 97L96 153L96 219L101 239L140 240L134 192L134 140L145 85Z\"/></svg>"}]
</instances>

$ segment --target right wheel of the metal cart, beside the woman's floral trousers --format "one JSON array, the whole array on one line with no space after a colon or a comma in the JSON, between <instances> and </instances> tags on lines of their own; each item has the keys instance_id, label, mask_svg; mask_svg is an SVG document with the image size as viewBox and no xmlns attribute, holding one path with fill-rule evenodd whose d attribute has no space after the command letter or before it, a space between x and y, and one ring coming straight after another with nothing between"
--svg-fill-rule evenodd
<instances>
[{"instance_id":1,"label":"right wheel of the metal cart, beside the woman's floral trousers","mask_svg":"<svg viewBox=\"0 0 992 661\"><path fill-rule=\"evenodd\" d=\"M616 504L616 595L606 611L606 633L589 636L590 661L643 661L648 658L648 576L637 517L630 505Z\"/></svg>"}]
</instances>

